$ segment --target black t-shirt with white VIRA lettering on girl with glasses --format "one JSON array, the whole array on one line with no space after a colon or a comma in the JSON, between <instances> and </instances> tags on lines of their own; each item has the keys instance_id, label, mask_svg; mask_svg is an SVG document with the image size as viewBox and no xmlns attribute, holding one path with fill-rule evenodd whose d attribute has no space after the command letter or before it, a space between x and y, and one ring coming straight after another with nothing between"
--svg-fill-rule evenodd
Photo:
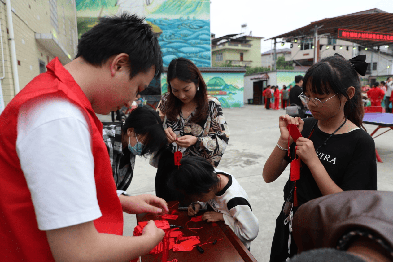
<instances>
[{"instance_id":1,"label":"black t-shirt with white VIRA lettering on girl with glasses","mask_svg":"<svg viewBox=\"0 0 393 262\"><path fill-rule=\"evenodd\" d=\"M303 137L309 136L316 120L313 117L304 119L301 132ZM330 134L322 132L315 125L310 140L318 148ZM295 143L290 146L290 155L295 156ZM345 134L333 135L317 152L327 173L343 191L376 190L376 157L374 139L359 128ZM290 162L288 156L284 158ZM322 196L309 168L301 162L300 179L296 181L299 205ZM288 179L284 187L284 200L292 189L293 182ZM291 201L293 196L291 196Z\"/></svg>"}]
</instances>

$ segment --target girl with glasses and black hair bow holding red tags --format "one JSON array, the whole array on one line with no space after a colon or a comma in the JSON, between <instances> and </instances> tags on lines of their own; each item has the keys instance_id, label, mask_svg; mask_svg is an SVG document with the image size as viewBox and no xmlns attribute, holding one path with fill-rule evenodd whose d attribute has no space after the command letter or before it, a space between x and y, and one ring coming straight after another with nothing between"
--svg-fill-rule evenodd
<instances>
[{"instance_id":1,"label":"girl with glasses and black hair bow holding red tags","mask_svg":"<svg viewBox=\"0 0 393 262\"><path fill-rule=\"evenodd\" d=\"M345 60L338 54L320 60L306 72L299 96L313 117L304 121L289 115L279 117L281 135L264 165L264 181L276 180L295 156L300 159L300 178L296 183L288 179L284 187L285 203L276 220L270 261L283 261L297 253L289 229L296 202L301 205L348 190L376 190L374 140L362 129L358 73L365 74L364 61L365 55ZM288 124L298 126L302 134L296 143L289 136Z\"/></svg>"}]
</instances>

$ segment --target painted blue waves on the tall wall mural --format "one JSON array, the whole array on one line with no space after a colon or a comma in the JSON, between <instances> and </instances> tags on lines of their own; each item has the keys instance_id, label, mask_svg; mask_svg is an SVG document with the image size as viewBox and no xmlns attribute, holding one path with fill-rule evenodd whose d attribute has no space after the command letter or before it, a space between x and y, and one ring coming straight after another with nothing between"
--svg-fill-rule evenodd
<instances>
[{"instance_id":1,"label":"painted blue waves on the tall wall mural","mask_svg":"<svg viewBox=\"0 0 393 262\"><path fill-rule=\"evenodd\" d=\"M162 34L158 38L163 53L163 65L171 60L185 57L196 66L210 66L210 21L187 17L179 19L146 18L160 27Z\"/></svg>"}]
</instances>

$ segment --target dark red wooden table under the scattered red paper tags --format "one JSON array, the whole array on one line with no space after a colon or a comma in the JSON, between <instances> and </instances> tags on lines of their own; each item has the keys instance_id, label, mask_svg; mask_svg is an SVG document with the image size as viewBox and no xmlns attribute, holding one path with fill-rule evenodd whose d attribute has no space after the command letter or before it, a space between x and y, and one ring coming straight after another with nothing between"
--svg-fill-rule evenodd
<instances>
[{"instance_id":1,"label":"dark red wooden table under the scattered red paper tags","mask_svg":"<svg viewBox=\"0 0 393 262\"><path fill-rule=\"evenodd\" d=\"M171 209L177 209L176 202L169 202L168 206ZM203 214L204 211L200 211L197 215ZM191 217L188 216L187 211L176 211L174 213L179 217L176 220L168 220L169 224L180 225L184 228L178 229L184 233L184 236L199 236L200 243L202 245L207 242L212 242L215 239L221 239L217 241L215 245L212 243L202 245L204 253L200 253L196 247L191 251L181 251L173 252L169 250L168 261L172 261L174 258L178 262L202 262L202 261L222 261L222 262L257 262L257 260L251 255L251 253L246 249L244 244L239 240L239 238L233 233L233 231L224 224L224 222L219 221L215 224L207 223L204 221L200 222L188 222ZM152 214L138 214L136 215L137 222L147 221L147 220L157 220L158 218ZM192 229L197 233L186 228L185 223L187 223L189 228L192 227L202 227L201 229ZM256 247L254 247L256 248ZM144 255L141 257L142 262L154 262L156 255Z\"/></svg>"}]
</instances>

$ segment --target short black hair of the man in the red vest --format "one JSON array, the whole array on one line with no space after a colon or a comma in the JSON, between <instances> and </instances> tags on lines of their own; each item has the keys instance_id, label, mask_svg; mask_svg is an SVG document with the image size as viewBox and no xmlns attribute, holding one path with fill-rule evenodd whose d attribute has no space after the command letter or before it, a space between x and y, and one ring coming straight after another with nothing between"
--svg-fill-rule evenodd
<instances>
[{"instance_id":1,"label":"short black hair of the man in the red vest","mask_svg":"<svg viewBox=\"0 0 393 262\"><path fill-rule=\"evenodd\" d=\"M151 26L136 15L101 17L98 24L79 40L75 58L83 57L94 66L102 66L113 55L129 55L130 78L156 67L154 76L162 73L162 52Z\"/></svg>"}]
</instances>

